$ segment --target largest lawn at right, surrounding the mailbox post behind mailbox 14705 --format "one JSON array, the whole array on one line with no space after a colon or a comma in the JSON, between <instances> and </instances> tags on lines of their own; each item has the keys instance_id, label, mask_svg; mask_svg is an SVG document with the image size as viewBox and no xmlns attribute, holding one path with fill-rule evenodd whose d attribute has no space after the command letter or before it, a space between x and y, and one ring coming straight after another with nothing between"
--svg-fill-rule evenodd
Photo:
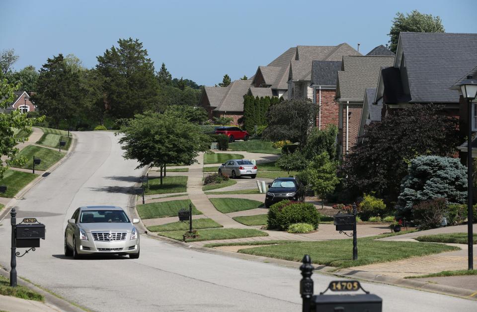
<instances>
[{"instance_id":1,"label":"largest lawn at right, surrounding the mailbox post behind mailbox 14705","mask_svg":"<svg viewBox=\"0 0 477 312\"><path fill-rule=\"evenodd\" d=\"M290 261L301 261L304 254L309 254L315 264L336 268L348 268L372 263L397 261L460 249L458 247L436 243L374 240L375 238L387 236L392 235L358 238L358 260L353 260L352 239L264 246L242 249L239 250L239 252Z\"/></svg>"}]
</instances>

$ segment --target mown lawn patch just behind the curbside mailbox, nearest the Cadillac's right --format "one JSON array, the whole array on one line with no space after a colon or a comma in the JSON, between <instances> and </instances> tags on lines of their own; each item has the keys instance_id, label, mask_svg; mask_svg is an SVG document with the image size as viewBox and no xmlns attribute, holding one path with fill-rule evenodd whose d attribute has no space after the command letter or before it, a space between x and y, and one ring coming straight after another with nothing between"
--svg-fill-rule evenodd
<instances>
[{"instance_id":1,"label":"mown lawn patch just behind the curbside mailbox, nearest the Cadillac's right","mask_svg":"<svg viewBox=\"0 0 477 312\"><path fill-rule=\"evenodd\" d=\"M138 205L138 213L141 219L162 218L166 216L177 216L180 209L189 209L190 200L170 201L162 203L151 203L145 205ZM192 204L192 214L202 214Z\"/></svg>"}]
</instances>

